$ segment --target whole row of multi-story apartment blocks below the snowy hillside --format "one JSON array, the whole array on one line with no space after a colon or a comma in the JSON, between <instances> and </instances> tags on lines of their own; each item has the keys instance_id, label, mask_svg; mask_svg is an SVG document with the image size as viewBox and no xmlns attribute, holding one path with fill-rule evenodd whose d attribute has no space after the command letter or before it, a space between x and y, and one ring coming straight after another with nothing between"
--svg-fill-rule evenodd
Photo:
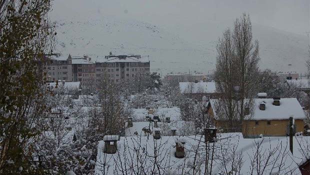
<instances>
[{"instance_id":1,"label":"whole row of multi-story apartment blocks below the snowy hillside","mask_svg":"<svg viewBox=\"0 0 310 175\"><path fill-rule=\"evenodd\" d=\"M104 57L97 57L95 61L91 57L71 56L56 53L47 56L43 66L47 81L80 81L81 85L87 85L99 81L106 74L109 82L132 80L141 74L150 72L148 57L126 54L113 55L111 52Z\"/></svg>"}]
</instances>

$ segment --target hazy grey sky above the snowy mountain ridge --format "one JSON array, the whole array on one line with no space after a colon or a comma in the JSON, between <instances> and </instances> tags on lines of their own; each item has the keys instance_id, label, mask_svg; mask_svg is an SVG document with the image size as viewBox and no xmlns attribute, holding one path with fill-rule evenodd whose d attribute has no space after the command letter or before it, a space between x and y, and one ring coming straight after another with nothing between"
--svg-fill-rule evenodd
<instances>
[{"instance_id":1,"label":"hazy grey sky above the snowy mountain ridge","mask_svg":"<svg viewBox=\"0 0 310 175\"><path fill-rule=\"evenodd\" d=\"M233 21L246 12L254 24L283 31L305 35L310 25L309 0L54 0L53 3L53 19L87 20L109 15L178 27L205 21Z\"/></svg>"}]
</instances>

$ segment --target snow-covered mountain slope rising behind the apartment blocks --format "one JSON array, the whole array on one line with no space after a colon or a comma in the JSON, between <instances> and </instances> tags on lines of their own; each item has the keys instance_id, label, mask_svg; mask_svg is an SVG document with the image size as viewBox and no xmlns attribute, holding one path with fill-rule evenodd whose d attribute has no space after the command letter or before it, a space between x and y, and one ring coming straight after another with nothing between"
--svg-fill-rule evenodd
<instances>
[{"instance_id":1,"label":"snow-covered mountain slope rising behind the apartment blocks","mask_svg":"<svg viewBox=\"0 0 310 175\"><path fill-rule=\"evenodd\" d=\"M57 7L61 2L55 3ZM89 14L91 7L93 14ZM206 17L201 23L191 23L185 16L179 16L184 17L184 23L179 18L175 18L173 23L172 17L167 16L170 23L166 24L166 21L135 18L133 14L130 16L126 7L121 8L125 9L120 11L121 15L110 15L91 5L84 8L79 15L69 12L68 17L65 14L68 11L53 11L52 19L56 20L57 29L56 51L71 55L88 54L94 60L109 51L115 54L149 55L151 70L159 73L188 70L206 73L214 69L217 39L233 22L230 18L217 19L213 16ZM63 12L63 15L59 15L59 12ZM306 35L260 24L253 24L252 29L253 37L260 43L262 68L285 70L288 64L292 64L291 68L296 71L305 70Z\"/></svg>"}]
</instances>

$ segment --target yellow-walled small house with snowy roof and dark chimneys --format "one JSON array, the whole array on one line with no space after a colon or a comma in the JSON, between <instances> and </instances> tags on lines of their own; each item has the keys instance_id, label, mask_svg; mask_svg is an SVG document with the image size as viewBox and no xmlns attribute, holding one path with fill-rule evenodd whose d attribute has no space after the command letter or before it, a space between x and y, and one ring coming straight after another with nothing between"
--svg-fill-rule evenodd
<instances>
[{"instance_id":1,"label":"yellow-walled small house with snowy roof and dark chimneys","mask_svg":"<svg viewBox=\"0 0 310 175\"><path fill-rule=\"evenodd\" d=\"M208 113L215 120L216 128L225 130L229 127L228 120L215 109L216 100L209 101ZM305 114L296 98L254 98L249 111L240 128L243 137L288 135L290 116L293 117L294 133L303 131Z\"/></svg>"}]
</instances>

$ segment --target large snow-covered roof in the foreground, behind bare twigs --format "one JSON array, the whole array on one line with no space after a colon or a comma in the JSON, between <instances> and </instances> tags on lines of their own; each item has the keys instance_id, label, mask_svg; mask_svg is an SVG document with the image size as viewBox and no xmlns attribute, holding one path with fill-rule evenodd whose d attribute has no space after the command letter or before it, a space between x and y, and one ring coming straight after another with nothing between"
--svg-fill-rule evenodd
<instances>
[{"instance_id":1,"label":"large snow-covered roof in the foreground, behind bare twigs","mask_svg":"<svg viewBox=\"0 0 310 175\"><path fill-rule=\"evenodd\" d=\"M177 137L179 136L161 136L157 140L153 139L152 135L149 135L148 139L146 136L120 137L117 152L114 154L104 153L104 142L99 141L95 174L121 174L124 171L131 174L139 167L143 167L144 173L151 174L155 153L157 165L165 167L157 169L158 174L167 174L167 171L173 174L192 174L192 165L204 162L206 157L204 137L185 136L186 158L176 158L175 139ZM263 172L260 171L262 174L301 174L298 166L310 157L309 147L306 144L310 141L310 137L296 136L293 139L294 154L292 155L286 137L249 139L243 138L240 133L219 133L217 141L208 144L210 149L207 151L212 155L209 156L208 163L212 162L212 174L226 174L225 170L230 171L231 168L239 170L239 174L248 174L251 169L256 172L257 168L264 169ZM257 145L259 145L258 148ZM204 172L204 168L210 166L203 164L195 167L196 171Z\"/></svg>"}]
</instances>

